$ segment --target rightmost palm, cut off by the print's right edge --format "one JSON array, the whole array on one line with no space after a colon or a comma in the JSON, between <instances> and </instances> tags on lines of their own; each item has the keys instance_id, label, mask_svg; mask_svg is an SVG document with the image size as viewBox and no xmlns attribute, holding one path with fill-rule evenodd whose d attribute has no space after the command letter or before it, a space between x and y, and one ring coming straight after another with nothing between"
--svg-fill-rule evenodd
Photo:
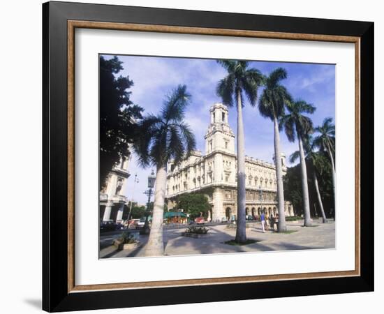
<instances>
[{"instance_id":1,"label":"rightmost palm, cut off by the print's right edge","mask_svg":"<svg viewBox=\"0 0 384 314\"><path fill-rule=\"evenodd\" d=\"M334 166L334 148L335 148L335 130L332 124L332 118L325 118L323 124L315 128L315 131L320 133L313 139L313 144L322 151L326 151L331 160L332 165L332 184L333 195L336 200L336 168Z\"/></svg>"}]
</instances>

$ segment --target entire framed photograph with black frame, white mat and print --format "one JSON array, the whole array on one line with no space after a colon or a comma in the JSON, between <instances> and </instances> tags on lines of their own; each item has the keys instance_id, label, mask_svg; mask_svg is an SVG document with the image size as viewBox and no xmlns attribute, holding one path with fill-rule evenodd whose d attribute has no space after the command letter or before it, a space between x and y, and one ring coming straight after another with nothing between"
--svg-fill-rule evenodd
<instances>
[{"instance_id":1,"label":"entire framed photograph with black frame, white mat and print","mask_svg":"<svg viewBox=\"0 0 384 314\"><path fill-rule=\"evenodd\" d=\"M374 290L374 23L43 4L43 309Z\"/></svg>"}]
</instances>

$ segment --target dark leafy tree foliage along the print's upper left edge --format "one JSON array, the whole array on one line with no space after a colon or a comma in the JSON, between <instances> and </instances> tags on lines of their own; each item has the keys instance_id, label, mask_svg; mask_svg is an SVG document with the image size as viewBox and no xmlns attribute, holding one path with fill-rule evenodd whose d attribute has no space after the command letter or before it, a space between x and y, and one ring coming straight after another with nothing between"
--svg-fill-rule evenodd
<instances>
[{"instance_id":1,"label":"dark leafy tree foliage along the print's upper left edge","mask_svg":"<svg viewBox=\"0 0 384 314\"><path fill-rule=\"evenodd\" d=\"M117 75L123 67L115 56L100 62L100 186L112 167L129 156L129 144L138 137L135 119L142 118L142 107L132 103L133 81L128 76Z\"/></svg>"}]
</instances>

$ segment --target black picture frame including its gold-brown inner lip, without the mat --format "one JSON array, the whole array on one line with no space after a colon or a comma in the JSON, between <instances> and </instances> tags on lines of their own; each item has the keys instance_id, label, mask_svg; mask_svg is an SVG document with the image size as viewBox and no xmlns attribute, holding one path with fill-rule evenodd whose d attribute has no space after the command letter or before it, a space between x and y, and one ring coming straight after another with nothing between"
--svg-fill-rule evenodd
<instances>
[{"instance_id":1,"label":"black picture frame including its gold-brown inner lip, without the mat","mask_svg":"<svg viewBox=\"0 0 384 314\"><path fill-rule=\"evenodd\" d=\"M353 43L355 270L76 285L74 52L75 29L81 28ZM373 103L372 22L43 3L43 310L79 311L373 291Z\"/></svg>"}]
</instances>

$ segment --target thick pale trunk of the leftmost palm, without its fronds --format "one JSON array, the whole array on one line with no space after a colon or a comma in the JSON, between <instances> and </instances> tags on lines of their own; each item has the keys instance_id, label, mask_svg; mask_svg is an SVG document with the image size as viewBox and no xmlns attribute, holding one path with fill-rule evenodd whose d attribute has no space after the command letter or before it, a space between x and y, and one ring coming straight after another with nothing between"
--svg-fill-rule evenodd
<instances>
[{"instance_id":1,"label":"thick pale trunk of the leftmost palm, without its fronds","mask_svg":"<svg viewBox=\"0 0 384 314\"><path fill-rule=\"evenodd\" d=\"M163 244L163 212L167 171L165 165L158 166L155 182L154 213L152 216L151 232L145 246L145 256L161 256L164 254Z\"/></svg>"}]
</instances>

